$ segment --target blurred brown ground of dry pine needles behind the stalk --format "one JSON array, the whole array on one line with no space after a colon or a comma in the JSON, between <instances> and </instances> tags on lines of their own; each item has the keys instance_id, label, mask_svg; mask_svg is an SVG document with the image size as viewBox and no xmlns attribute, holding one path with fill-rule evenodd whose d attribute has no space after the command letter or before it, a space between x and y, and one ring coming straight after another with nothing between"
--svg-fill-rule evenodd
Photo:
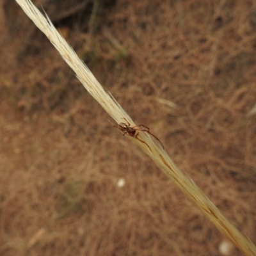
<instances>
[{"instance_id":1,"label":"blurred brown ground of dry pine needles behind the stalk","mask_svg":"<svg viewBox=\"0 0 256 256\"><path fill-rule=\"evenodd\" d=\"M93 36L79 15L60 22L61 32L256 243L256 121L247 115L256 103L256 6L138 2L105 6ZM220 255L225 237L111 127L47 39L10 5L5 13L19 19L6 14L10 28L2 29L0 255Z\"/></svg>"}]
</instances>

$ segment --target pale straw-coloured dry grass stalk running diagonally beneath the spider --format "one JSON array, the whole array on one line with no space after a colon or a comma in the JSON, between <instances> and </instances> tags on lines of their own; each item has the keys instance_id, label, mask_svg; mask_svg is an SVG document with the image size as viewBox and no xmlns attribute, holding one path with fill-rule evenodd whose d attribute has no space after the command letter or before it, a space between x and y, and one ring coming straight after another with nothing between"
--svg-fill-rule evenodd
<instances>
[{"instance_id":1,"label":"pale straw-coloured dry grass stalk running diagonally beneath the spider","mask_svg":"<svg viewBox=\"0 0 256 256\"><path fill-rule=\"evenodd\" d=\"M68 65L76 72L77 78L81 81L88 92L99 102L108 114L119 124L124 122L122 118L129 120L131 125L135 125L127 113L116 102L115 99L106 92L92 72L84 65L83 61L79 59L76 52L68 45L65 39L54 28L49 17L42 15L38 9L31 3L30 0L16 0L28 17L33 20L36 26L49 38L54 47L60 52L62 58ZM225 234L230 240L245 255L256 255L256 246L247 237L244 237L228 220L221 214L218 208L204 195L204 193L196 186L188 175L181 172L181 170L173 163L172 159L166 151L153 140L146 132L140 132L141 140L145 141L149 148L140 141L127 136L139 147L141 147L146 154L148 154L153 161L163 170L163 172L182 190L182 192L193 202L204 215L215 225L220 232Z\"/></svg>"}]
</instances>

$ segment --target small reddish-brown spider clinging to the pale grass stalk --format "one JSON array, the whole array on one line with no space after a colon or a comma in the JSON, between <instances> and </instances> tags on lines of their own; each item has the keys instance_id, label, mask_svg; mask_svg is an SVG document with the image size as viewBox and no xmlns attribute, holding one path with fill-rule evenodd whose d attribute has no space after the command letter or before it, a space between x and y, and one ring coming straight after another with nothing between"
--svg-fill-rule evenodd
<instances>
[{"instance_id":1,"label":"small reddish-brown spider clinging to the pale grass stalk","mask_svg":"<svg viewBox=\"0 0 256 256\"><path fill-rule=\"evenodd\" d=\"M129 136L136 138L137 140L141 141L142 143L144 143L145 145L147 145L147 143L145 143L145 141L141 140L140 138L138 138L139 135L139 131L141 132L148 132L150 135L152 135L154 138L156 138L157 141L159 141L159 143L162 145L162 147L164 148L163 144L161 143L161 141L154 136L154 134L152 134L149 131L149 128L143 124L140 125L136 125L134 127L130 127L130 123L127 121L127 119L125 117L123 117L122 119L125 120L125 122L127 122L127 124L125 123L120 123L118 126L113 125L115 128L117 128L118 130L124 132L123 135L128 134ZM147 145L147 147L150 149L150 147ZM151 150L151 149L150 149Z\"/></svg>"}]
</instances>

